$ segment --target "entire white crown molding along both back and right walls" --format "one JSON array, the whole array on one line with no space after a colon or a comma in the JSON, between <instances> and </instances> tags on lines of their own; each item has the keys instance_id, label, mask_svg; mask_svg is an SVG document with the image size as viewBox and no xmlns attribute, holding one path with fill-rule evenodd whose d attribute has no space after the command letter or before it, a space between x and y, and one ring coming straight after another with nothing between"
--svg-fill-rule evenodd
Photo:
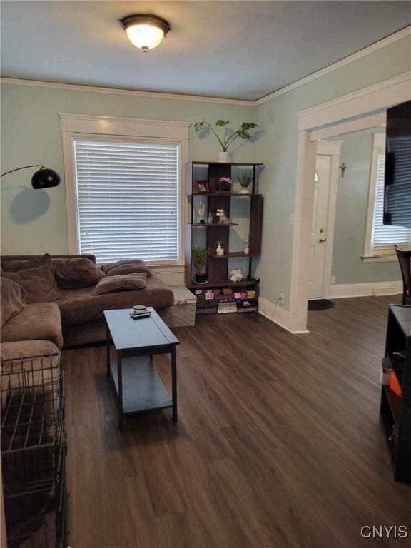
<instances>
[{"instance_id":1,"label":"entire white crown molding along both back and right walls","mask_svg":"<svg viewBox=\"0 0 411 548\"><path fill-rule=\"evenodd\" d=\"M161 93L161 91L141 91L138 89L128 89L128 88L85 86L85 85L76 84L76 83L47 82L47 81L40 81L40 80L27 80L24 78L8 78L4 76L0 78L0 83L13 84L16 86L32 86L37 88L63 89L67 91L86 91L89 93L90 92L106 93L108 95L148 97L148 98L156 98L156 99L171 99L173 101L198 101L200 103L220 103L225 105L238 105L238 106L258 106L263 103L266 103L267 101L270 101L271 99L275 97L283 95L283 93L288 93L288 91L292 91L293 89L299 88L300 86L304 86L306 83L312 82L316 80L317 78L321 78L322 76L325 76L325 74L336 71L338 68L341 68L342 66L346 66L350 63L353 63L354 61L357 61L358 59L362 59L362 57L370 55L374 53L375 51L378 51L379 49L385 48L385 46L394 44L395 42L402 40L403 38L406 38L407 36L411 36L411 25L406 26L404 29L397 31L394 34L390 34L390 36L386 36L385 38L375 42L375 44L371 44L370 46L360 49L360 51L356 51L355 54L344 57L343 59L340 59L340 61L336 61L333 64L325 66L325 68L321 68L319 71L313 72L312 74L305 76L304 78L300 78L300 80L290 83L290 85L288 86L285 86L276 91L273 91L273 93L269 93L268 95L261 97L259 99L256 99L254 101L247 100L247 99L230 99L230 98L222 98L222 97L185 95L184 93Z\"/></svg>"}]
</instances>

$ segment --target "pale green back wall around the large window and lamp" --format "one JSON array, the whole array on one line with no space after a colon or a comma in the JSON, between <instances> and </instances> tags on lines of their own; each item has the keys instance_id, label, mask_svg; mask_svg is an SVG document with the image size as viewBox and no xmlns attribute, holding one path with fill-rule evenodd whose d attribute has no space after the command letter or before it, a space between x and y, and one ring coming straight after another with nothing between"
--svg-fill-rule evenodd
<instances>
[{"instance_id":1,"label":"pale green back wall around the large window and lamp","mask_svg":"<svg viewBox=\"0 0 411 548\"><path fill-rule=\"evenodd\" d=\"M59 113L126 116L195 122L205 117L230 120L231 126L253 121L255 109L201 101L108 95L34 86L1 86L1 171L46 163L64 175ZM254 161L253 143L239 141L235 161ZM200 139L191 128L191 160L217 160L218 143ZM67 253L64 185L34 191L31 172L14 173L1 181L1 253Z\"/></svg>"}]
</instances>

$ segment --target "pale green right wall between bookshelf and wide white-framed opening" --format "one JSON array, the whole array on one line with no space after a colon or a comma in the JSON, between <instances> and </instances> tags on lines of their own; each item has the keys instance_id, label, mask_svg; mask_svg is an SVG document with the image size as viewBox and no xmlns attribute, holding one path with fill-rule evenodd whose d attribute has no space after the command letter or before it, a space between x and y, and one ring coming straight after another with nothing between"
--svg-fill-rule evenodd
<instances>
[{"instance_id":1,"label":"pale green right wall between bookshelf and wide white-framed opening","mask_svg":"<svg viewBox=\"0 0 411 548\"><path fill-rule=\"evenodd\" d=\"M255 158L265 163L260 190L265 195L263 251L257 274L261 296L275 302L285 293L289 308L297 163L297 113L411 70L409 37L261 104L257 123L265 129Z\"/></svg>"}]
</instances>

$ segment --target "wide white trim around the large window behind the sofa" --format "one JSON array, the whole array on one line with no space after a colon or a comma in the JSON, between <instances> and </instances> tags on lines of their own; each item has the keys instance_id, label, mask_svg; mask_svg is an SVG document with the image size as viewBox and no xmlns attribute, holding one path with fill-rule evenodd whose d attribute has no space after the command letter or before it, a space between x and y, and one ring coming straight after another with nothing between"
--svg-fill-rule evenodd
<instances>
[{"instance_id":1,"label":"wide white trim around the large window behind the sofa","mask_svg":"<svg viewBox=\"0 0 411 548\"><path fill-rule=\"evenodd\" d=\"M141 140L146 142L172 143L179 150L179 257L176 262L158 261L153 266L167 266L181 271L184 265L184 225L188 222L188 200L185 193L186 161L188 160L189 122L141 120L138 118L119 118L116 116L84 116L82 114L59 114L61 118L61 138L64 155L64 180L66 188L68 252L77 254L78 245L78 209L74 141L94 138L101 140Z\"/></svg>"}]
</instances>

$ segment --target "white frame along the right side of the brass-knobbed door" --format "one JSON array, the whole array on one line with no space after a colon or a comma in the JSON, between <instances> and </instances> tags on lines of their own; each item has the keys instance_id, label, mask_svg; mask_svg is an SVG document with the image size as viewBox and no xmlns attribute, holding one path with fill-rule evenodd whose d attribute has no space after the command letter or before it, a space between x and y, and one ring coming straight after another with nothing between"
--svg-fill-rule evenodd
<instances>
[{"instance_id":1,"label":"white frame along the right side of the brass-knobbed door","mask_svg":"<svg viewBox=\"0 0 411 548\"><path fill-rule=\"evenodd\" d=\"M335 208L337 205L337 186L340 169L340 152L344 141L318 141L317 155L331 156L330 179L328 181L328 215L325 226L327 245L325 246L323 297L330 296L331 274L333 268Z\"/></svg>"}]
</instances>

